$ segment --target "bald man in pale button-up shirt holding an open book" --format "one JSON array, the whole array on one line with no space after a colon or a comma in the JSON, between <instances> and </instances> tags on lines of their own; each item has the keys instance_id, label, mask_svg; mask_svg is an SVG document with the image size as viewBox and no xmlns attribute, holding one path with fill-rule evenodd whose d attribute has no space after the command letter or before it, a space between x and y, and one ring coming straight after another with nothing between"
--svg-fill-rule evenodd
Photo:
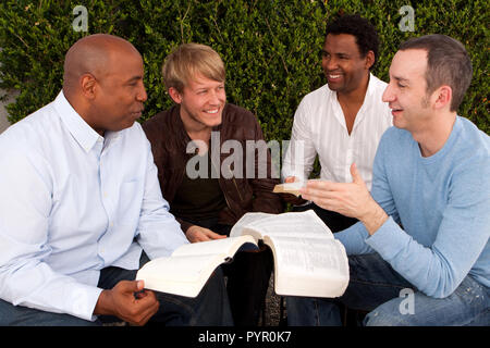
<instances>
[{"instance_id":1,"label":"bald man in pale button-up shirt holding an open book","mask_svg":"<svg viewBox=\"0 0 490 348\"><path fill-rule=\"evenodd\" d=\"M0 325L232 324L219 271L194 299L134 281L187 243L135 122L143 76L130 42L87 36L56 100L0 136Z\"/></svg>"}]
</instances>

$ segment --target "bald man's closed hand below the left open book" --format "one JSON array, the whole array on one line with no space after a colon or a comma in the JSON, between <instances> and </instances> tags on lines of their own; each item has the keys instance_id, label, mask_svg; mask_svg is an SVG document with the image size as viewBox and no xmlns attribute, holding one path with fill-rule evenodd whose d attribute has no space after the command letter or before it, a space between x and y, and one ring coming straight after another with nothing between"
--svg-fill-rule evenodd
<instances>
[{"instance_id":1,"label":"bald man's closed hand below the left open book","mask_svg":"<svg viewBox=\"0 0 490 348\"><path fill-rule=\"evenodd\" d=\"M119 282L112 289L100 293L94 314L115 315L130 324L145 325L160 303L152 291L143 289L143 281Z\"/></svg>"}]
</instances>

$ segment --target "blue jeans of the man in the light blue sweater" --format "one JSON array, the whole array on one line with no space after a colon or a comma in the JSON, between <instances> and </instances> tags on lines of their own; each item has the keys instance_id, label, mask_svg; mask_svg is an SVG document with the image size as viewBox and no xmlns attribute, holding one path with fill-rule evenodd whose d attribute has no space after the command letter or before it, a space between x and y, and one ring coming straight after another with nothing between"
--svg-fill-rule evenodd
<instances>
[{"instance_id":1,"label":"blue jeans of the man in the light blue sweater","mask_svg":"<svg viewBox=\"0 0 490 348\"><path fill-rule=\"evenodd\" d=\"M367 326L490 325L490 290L466 276L445 298L418 291L378 253L350 256L351 281L342 297L287 297L291 326L339 326L340 303L369 313Z\"/></svg>"}]
</instances>

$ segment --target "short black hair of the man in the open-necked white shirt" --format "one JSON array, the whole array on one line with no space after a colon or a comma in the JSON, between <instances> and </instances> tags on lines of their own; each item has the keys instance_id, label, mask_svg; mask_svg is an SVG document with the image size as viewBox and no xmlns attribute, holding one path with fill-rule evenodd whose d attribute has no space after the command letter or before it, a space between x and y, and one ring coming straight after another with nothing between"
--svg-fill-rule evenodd
<instances>
[{"instance_id":1,"label":"short black hair of the man in the open-necked white shirt","mask_svg":"<svg viewBox=\"0 0 490 348\"><path fill-rule=\"evenodd\" d=\"M353 35L356 38L356 44L363 58L369 51L375 53L375 62L369 70L372 70L376 65L378 61L379 37L375 26L368 20L363 18L358 14L345 14L327 26L326 39L329 34Z\"/></svg>"}]
</instances>

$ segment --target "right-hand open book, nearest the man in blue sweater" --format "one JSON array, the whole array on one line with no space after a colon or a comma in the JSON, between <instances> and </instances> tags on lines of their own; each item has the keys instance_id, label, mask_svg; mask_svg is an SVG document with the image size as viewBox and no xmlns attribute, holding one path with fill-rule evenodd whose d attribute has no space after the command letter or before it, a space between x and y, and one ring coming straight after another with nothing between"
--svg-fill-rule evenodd
<instances>
[{"instance_id":1,"label":"right-hand open book, nearest the man in blue sweater","mask_svg":"<svg viewBox=\"0 0 490 348\"><path fill-rule=\"evenodd\" d=\"M339 297L348 285L344 246L313 211L283 214L247 213L230 236L262 239L274 257L278 295Z\"/></svg>"}]
</instances>

